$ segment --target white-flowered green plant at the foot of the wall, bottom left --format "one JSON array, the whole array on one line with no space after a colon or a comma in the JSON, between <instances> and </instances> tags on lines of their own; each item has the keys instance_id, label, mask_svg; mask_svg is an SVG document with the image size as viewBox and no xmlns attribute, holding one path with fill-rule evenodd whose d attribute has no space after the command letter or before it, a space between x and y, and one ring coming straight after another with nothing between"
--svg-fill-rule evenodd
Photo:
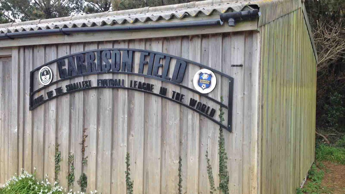
<instances>
[{"instance_id":1,"label":"white-flowered green plant at the foot of the wall, bottom left","mask_svg":"<svg viewBox=\"0 0 345 194\"><path fill-rule=\"evenodd\" d=\"M72 194L72 190L67 192L66 188L58 182L51 184L48 179L41 181L36 178L36 172L30 174L22 170L19 176L11 177L5 184L0 194ZM80 192L78 192L80 193ZM97 191L91 192L91 194ZM82 192L80 193L82 194Z\"/></svg>"}]
</instances>

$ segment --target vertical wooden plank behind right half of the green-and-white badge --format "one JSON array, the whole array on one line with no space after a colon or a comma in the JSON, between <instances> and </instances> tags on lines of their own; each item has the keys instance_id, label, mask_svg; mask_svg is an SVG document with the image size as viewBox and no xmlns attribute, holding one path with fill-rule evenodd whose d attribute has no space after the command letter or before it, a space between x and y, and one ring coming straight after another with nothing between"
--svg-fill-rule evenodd
<instances>
[{"instance_id":1,"label":"vertical wooden plank behind right half of the green-and-white badge","mask_svg":"<svg viewBox=\"0 0 345 194\"><path fill-rule=\"evenodd\" d=\"M45 53L45 62L52 61L56 59L57 56L57 48L55 45L49 45L46 47L46 53ZM53 74L53 80L56 80L56 77L58 76L57 67L50 65L50 69ZM55 77L55 79L54 79ZM50 86L48 88L48 91L54 90L57 88L56 86ZM44 174L48 174L48 180L52 183L54 182L54 176L55 176L55 140L56 140L56 126L57 126L57 120L56 120L56 106L57 106L57 99L49 100L45 105L45 154L44 157ZM60 104L60 106L63 106ZM63 142L65 144L68 144L68 142ZM62 147L62 146L61 146ZM62 161L64 163L65 161ZM63 178L63 177L62 177Z\"/></svg>"}]
</instances>

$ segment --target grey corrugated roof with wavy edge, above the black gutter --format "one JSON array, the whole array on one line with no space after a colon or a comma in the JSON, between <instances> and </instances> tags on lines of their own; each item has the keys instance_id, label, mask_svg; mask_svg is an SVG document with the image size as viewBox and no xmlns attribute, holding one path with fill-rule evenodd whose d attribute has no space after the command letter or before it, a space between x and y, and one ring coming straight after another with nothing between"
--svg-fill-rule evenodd
<instances>
[{"instance_id":1,"label":"grey corrugated roof with wavy edge, above the black gutter","mask_svg":"<svg viewBox=\"0 0 345 194\"><path fill-rule=\"evenodd\" d=\"M21 32L56 28L81 28L117 25L186 17L209 16L224 12L253 9L252 0L207 0L159 7L145 7L131 10L108 11L102 13L69 16L63 18L40 19L25 22L0 24L0 33Z\"/></svg>"}]
</instances>

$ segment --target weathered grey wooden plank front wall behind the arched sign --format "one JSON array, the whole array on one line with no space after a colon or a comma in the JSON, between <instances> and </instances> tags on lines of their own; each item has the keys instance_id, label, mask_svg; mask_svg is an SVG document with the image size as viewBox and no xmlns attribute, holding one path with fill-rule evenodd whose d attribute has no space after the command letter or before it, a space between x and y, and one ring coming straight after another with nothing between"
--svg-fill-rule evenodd
<instances>
[{"instance_id":1,"label":"weathered grey wooden plank front wall behind the arched sign","mask_svg":"<svg viewBox=\"0 0 345 194\"><path fill-rule=\"evenodd\" d=\"M33 172L34 167L39 178L48 174L52 181L55 147L60 145L59 180L64 187L67 187L68 155L73 153L76 168L74 189L79 189L77 180L81 173L86 173L88 190L97 189L105 194L126 193L127 152L130 154L134 193L177 193L179 158L182 160L183 193L209 193L206 151L218 185L218 126L172 101L125 89L91 89L58 97L29 111L30 70L79 51L122 47L180 56L235 78L233 133L224 130L229 158L229 188L230 193L256 193L258 43L259 33L247 31L13 48L11 61L0 64L0 183L18 173L20 168ZM244 66L230 67L231 64ZM192 79L198 69L198 66L188 66L182 84L193 87ZM52 71L56 75L57 69ZM89 75L68 81L113 76ZM144 77L117 76L161 84ZM186 93L186 99L194 97L207 101L186 89L162 84ZM215 90L209 95L217 100L221 96L227 99L227 81L219 77ZM87 165L81 164L83 129L88 135Z\"/></svg>"}]
</instances>

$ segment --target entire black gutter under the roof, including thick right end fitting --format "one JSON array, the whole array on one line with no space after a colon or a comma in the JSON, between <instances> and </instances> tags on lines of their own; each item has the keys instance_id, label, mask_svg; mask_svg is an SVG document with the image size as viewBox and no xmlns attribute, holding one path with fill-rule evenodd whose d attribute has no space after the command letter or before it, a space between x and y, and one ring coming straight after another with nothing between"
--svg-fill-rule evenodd
<instances>
[{"instance_id":1,"label":"entire black gutter under the roof, including thick right end fitting","mask_svg":"<svg viewBox=\"0 0 345 194\"><path fill-rule=\"evenodd\" d=\"M147 30L147 29L168 29L168 28L185 28L185 27L198 27L198 26L216 26L223 25L224 21L228 21L229 26L235 26L235 21L253 19L260 16L258 9L250 11L237 11L229 13L221 13L220 19L200 20L200 21L183 21L171 22L161 24L148 24L148 25L130 25L130 26L109 26L109 27L81 27L81 28L58 28L46 30L32 30L23 32L7 32L0 34L0 40L14 39L31 36L55 35L63 34L70 35L71 33L78 32L106 32L106 31L128 31L128 30Z\"/></svg>"}]
</instances>

